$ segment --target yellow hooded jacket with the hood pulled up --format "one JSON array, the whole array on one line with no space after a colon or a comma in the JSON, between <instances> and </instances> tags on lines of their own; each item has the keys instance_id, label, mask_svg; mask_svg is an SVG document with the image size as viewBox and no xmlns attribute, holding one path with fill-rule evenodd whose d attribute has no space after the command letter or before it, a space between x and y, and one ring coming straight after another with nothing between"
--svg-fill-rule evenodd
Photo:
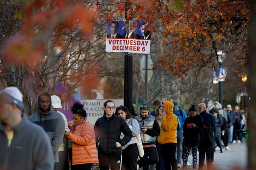
<instances>
[{"instance_id":1,"label":"yellow hooded jacket with the hood pulled up","mask_svg":"<svg viewBox=\"0 0 256 170\"><path fill-rule=\"evenodd\" d=\"M167 116L163 117L160 126L160 136L157 137L157 142L160 144L177 143L176 129L178 125L177 116L172 113L173 102L164 101Z\"/></svg>"}]
</instances>

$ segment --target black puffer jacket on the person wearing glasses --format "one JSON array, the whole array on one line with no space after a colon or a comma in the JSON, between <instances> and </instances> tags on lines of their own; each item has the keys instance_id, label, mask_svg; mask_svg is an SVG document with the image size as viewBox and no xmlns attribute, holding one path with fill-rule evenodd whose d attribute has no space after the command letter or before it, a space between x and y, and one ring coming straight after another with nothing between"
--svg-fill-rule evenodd
<instances>
[{"instance_id":1,"label":"black puffer jacket on the person wearing glasses","mask_svg":"<svg viewBox=\"0 0 256 170\"><path fill-rule=\"evenodd\" d=\"M103 116L99 118L95 125L94 131L96 136L96 144L99 144L99 153L113 153L121 150L121 147L116 147L116 142L119 142L122 146L127 144L132 137L132 132L127 123L122 117L113 114L107 118ZM120 139L121 132L125 135L123 139Z\"/></svg>"}]
</instances>

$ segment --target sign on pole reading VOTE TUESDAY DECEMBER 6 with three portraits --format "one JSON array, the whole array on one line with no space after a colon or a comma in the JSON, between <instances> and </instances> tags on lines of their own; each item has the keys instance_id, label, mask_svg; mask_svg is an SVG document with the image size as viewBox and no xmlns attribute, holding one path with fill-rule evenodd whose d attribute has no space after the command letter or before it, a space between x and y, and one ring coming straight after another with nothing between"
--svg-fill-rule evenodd
<instances>
[{"instance_id":1,"label":"sign on pole reading VOTE TUESDAY DECEMBER 6 with three portraits","mask_svg":"<svg viewBox=\"0 0 256 170\"><path fill-rule=\"evenodd\" d=\"M150 54L151 31L147 23L113 20L108 23L106 52Z\"/></svg>"}]
</instances>

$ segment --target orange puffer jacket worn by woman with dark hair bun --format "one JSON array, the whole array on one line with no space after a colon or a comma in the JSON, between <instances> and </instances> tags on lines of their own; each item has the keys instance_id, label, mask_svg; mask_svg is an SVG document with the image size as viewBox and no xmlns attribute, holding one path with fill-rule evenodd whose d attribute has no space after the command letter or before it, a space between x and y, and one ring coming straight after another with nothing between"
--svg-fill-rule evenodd
<instances>
[{"instance_id":1,"label":"orange puffer jacket worn by woman with dark hair bun","mask_svg":"<svg viewBox=\"0 0 256 170\"><path fill-rule=\"evenodd\" d=\"M73 131L73 130L72 130ZM92 125L87 122L76 126L67 137L72 142L72 164L99 163L95 133Z\"/></svg>"}]
</instances>

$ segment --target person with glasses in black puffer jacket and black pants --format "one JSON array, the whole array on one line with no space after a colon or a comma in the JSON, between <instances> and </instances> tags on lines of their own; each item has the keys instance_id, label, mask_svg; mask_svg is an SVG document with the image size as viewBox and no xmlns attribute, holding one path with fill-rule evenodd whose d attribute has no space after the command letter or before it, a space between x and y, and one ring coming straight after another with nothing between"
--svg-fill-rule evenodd
<instances>
[{"instance_id":1,"label":"person with glasses in black puffer jacket and black pants","mask_svg":"<svg viewBox=\"0 0 256 170\"><path fill-rule=\"evenodd\" d=\"M110 164L111 170L119 170L122 161L121 147L131 140L132 132L122 117L113 114L115 104L112 100L107 100L103 109L104 115L94 125L99 169L109 170ZM121 132L125 135L122 139Z\"/></svg>"}]
</instances>

